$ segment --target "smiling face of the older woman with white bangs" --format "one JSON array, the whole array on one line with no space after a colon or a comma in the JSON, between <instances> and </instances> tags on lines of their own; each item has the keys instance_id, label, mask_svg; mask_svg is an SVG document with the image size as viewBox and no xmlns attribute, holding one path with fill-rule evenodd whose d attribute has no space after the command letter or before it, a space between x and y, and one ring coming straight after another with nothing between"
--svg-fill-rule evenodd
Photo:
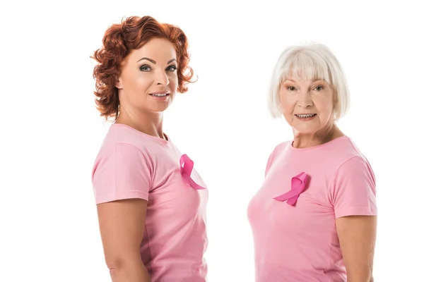
<instances>
[{"instance_id":1,"label":"smiling face of the older woman with white bangs","mask_svg":"<svg viewBox=\"0 0 424 282\"><path fill-rule=\"evenodd\" d=\"M317 133L334 121L334 91L324 80L284 80L280 106L285 121L300 134Z\"/></svg>"}]
</instances>

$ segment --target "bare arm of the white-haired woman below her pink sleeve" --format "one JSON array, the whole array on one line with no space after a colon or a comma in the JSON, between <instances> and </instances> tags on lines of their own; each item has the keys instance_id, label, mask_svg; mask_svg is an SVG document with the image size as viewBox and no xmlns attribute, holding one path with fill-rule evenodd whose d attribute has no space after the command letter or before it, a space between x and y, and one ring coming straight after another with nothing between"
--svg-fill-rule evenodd
<instances>
[{"instance_id":1,"label":"bare arm of the white-haired woman below her pink sleeve","mask_svg":"<svg viewBox=\"0 0 424 282\"><path fill-rule=\"evenodd\" d=\"M348 281L371 281L377 216L343 216L336 219Z\"/></svg>"}]
</instances>

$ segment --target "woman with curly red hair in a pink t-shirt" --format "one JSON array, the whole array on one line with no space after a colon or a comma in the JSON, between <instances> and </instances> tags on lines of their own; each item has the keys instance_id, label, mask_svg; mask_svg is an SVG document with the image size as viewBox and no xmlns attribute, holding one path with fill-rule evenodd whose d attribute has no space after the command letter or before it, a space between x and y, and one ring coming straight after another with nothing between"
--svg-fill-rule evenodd
<instances>
[{"instance_id":1,"label":"woman with curly red hair in a pink t-shirt","mask_svg":"<svg viewBox=\"0 0 424 282\"><path fill-rule=\"evenodd\" d=\"M163 133L163 112L192 82L187 37L134 16L109 27L102 43L95 96L113 123L92 180L112 281L204 282L208 192Z\"/></svg>"}]
</instances>

